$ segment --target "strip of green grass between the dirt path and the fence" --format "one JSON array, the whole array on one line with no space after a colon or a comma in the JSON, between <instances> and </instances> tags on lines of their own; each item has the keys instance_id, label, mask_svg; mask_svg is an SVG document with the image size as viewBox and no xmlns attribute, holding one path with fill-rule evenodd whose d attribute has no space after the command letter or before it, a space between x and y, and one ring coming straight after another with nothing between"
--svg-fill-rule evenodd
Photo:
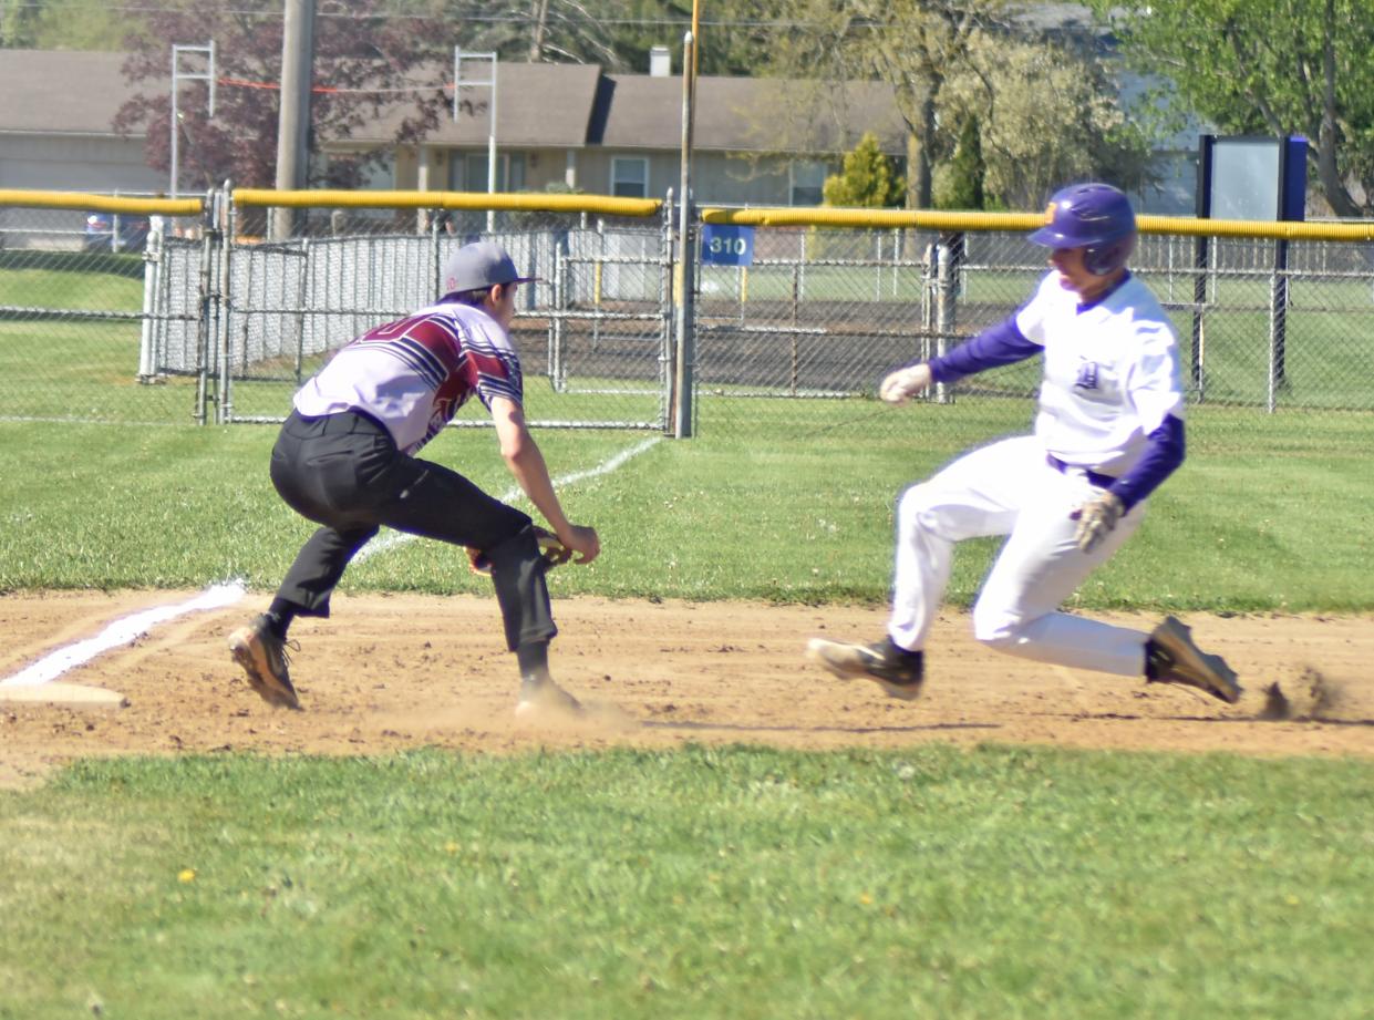
<instances>
[{"instance_id":1,"label":"strip of green grass between the dirt path and the fence","mask_svg":"<svg viewBox=\"0 0 1374 1020\"><path fill-rule=\"evenodd\" d=\"M555 595L879 603L900 489L970 445L1024 430L1029 414L1013 400L907 412L872 401L749 401L745 441L727 428L738 403L708 403L701 437L664 440L565 489L573 518L600 531L605 555L551 575ZM874 429L879 415L886 421ZM1369 419L1322 423L1296 430L1282 417L1195 415L1190 459L1073 605L1374 608L1364 566L1374 542ZM199 587L232 577L275 588L311 532L268 480L275 432L0 422L0 590ZM643 436L545 430L539 440L561 476ZM514 489L489 429L451 430L426 454L495 495ZM995 548L959 547L954 605L973 599ZM486 591L459 550L433 542L354 565L344 587Z\"/></svg>"}]
</instances>

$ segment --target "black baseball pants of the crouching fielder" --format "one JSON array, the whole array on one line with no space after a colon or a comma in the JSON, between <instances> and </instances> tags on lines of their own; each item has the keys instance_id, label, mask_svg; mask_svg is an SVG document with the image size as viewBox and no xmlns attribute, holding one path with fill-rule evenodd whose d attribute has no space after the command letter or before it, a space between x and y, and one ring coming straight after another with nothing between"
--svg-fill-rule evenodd
<instances>
[{"instance_id":1,"label":"black baseball pants of the crouching fielder","mask_svg":"<svg viewBox=\"0 0 1374 1020\"><path fill-rule=\"evenodd\" d=\"M448 467L400 452L368 415L293 411L272 450L272 484L293 510L322 525L278 588L301 616L330 614L344 569L385 525L486 553L513 652L558 632L529 515Z\"/></svg>"}]
</instances>

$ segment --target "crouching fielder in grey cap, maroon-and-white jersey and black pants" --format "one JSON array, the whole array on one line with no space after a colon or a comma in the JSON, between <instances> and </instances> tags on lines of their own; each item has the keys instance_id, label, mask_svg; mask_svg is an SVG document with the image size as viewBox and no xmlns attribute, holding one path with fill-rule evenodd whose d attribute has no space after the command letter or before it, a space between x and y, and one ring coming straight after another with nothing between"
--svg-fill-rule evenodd
<instances>
[{"instance_id":1,"label":"crouching fielder in grey cap, maroon-and-white jersey and black pants","mask_svg":"<svg viewBox=\"0 0 1374 1020\"><path fill-rule=\"evenodd\" d=\"M486 565L519 665L517 713L577 711L548 672L558 628L544 572L554 553L577 553L574 562L589 564L600 540L563 514L525 426L521 364L507 331L515 289L532 279L497 245L467 245L449 258L438 302L364 333L297 392L272 450L272 484L320 528L271 608L229 636L234 658L267 702L300 708L287 628L297 616L330 614L344 569L386 525L466 546L474 565ZM415 456L474 393L492 414L507 467L554 535L463 476Z\"/></svg>"}]
</instances>

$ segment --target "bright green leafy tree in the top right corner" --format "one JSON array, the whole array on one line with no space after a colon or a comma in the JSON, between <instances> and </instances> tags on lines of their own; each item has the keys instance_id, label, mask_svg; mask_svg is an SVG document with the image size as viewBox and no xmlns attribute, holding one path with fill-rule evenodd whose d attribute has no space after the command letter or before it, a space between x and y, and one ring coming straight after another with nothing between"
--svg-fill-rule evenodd
<instances>
[{"instance_id":1,"label":"bright green leafy tree in the top right corner","mask_svg":"<svg viewBox=\"0 0 1374 1020\"><path fill-rule=\"evenodd\" d=\"M1116 0L1094 0L1099 11ZM1150 0L1117 14L1123 52L1161 95L1237 135L1305 135L1331 210L1374 214L1369 0Z\"/></svg>"}]
</instances>

